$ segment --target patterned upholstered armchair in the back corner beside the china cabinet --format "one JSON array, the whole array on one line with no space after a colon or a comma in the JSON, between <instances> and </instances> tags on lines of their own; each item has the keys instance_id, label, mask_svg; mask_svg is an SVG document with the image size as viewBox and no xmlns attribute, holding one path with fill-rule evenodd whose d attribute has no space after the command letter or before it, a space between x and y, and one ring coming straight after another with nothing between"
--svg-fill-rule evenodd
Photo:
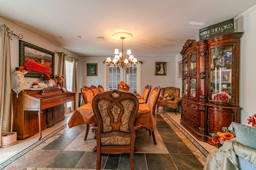
<instances>
[{"instance_id":1,"label":"patterned upholstered armchair in the back corner beside the china cabinet","mask_svg":"<svg viewBox=\"0 0 256 170\"><path fill-rule=\"evenodd\" d=\"M172 100L163 100L165 94L170 94L173 95L174 98ZM171 107L174 108L175 114L176 110L178 107L178 103L181 101L180 99L180 88L176 87L166 87L166 88L161 88L161 96L159 96L158 101L157 101L157 112L158 112L158 107Z\"/></svg>"}]
</instances>

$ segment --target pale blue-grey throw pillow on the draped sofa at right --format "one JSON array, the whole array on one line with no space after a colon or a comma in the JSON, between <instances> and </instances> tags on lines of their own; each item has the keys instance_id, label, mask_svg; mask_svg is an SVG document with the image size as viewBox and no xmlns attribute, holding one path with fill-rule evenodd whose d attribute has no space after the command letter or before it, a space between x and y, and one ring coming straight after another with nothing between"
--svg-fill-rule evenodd
<instances>
[{"instance_id":1,"label":"pale blue-grey throw pillow on the draped sofa at right","mask_svg":"<svg viewBox=\"0 0 256 170\"><path fill-rule=\"evenodd\" d=\"M256 149L256 127L242 125L240 123L232 122L234 131L236 133L236 141L242 145Z\"/></svg>"}]
</instances>

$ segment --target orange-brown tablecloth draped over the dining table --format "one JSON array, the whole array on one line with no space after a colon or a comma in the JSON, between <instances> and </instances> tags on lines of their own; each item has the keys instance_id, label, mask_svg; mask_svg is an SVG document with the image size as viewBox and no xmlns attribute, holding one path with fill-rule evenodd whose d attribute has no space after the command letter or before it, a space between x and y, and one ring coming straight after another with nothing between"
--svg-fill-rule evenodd
<instances>
[{"instance_id":1,"label":"orange-brown tablecloth draped over the dining table","mask_svg":"<svg viewBox=\"0 0 256 170\"><path fill-rule=\"evenodd\" d=\"M138 95L137 97L139 101L143 101L140 95ZM138 120L138 122L142 124L143 127L146 127L151 131L154 131L156 127L156 120L150 113L150 109L146 103L139 105L136 120ZM78 107L74 111L74 113L68 120L68 127L71 128L78 125L86 125L91 123L96 123L96 118L92 111L92 103L88 103Z\"/></svg>"}]
</instances>

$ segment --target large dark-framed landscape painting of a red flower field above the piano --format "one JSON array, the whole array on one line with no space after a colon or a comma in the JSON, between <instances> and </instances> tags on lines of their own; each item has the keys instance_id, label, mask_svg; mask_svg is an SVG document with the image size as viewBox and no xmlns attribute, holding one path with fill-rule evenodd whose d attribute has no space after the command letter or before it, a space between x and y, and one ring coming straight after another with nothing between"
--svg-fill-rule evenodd
<instances>
[{"instance_id":1,"label":"large dark-framed landscape painting of a red flower field above the piano","mask_svg":"<svg viewBox=\"0 0 256 170\"><path fill-rule=\"evenodd\" d=\"M26 77L49 74L54 77L54 52L20 40L20 66L29 70Z\"/></svg>"}]
</instances>

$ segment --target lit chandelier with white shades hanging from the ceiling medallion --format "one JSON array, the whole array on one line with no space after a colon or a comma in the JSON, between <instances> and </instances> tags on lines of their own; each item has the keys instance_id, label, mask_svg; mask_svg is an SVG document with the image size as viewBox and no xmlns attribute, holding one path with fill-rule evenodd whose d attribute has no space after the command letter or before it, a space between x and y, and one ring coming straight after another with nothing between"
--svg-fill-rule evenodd
<instances>
[{"instance_id":1,"label":"lit chandelier with white shades hanging from the ceiling medallion","mask_svg":"<svg viewBox=\"0 0 256 170\"><path fill-rule=\"evenodd\" d=\"M124 39L125 38L131 39L132 34L125 33L125 32L118 32L113 34L113 37L116 37L116 36L121 36L120 39L122 39L122 52L119 53L119 50L115 49L114 51L115 57L113 61L110 59L110 57L107 57L106 63L108 64L111 70L117 70L119 68L124 68L125 70L128 68L130 70L133 70L136 66L136 63L138 63L137 59L133 57L132 51L130 49L128 49L126 53L128 54L128 56L124 56L124 53L123 53ZM112 63L113 65L111 65L110 63Z\"/></svg>"}]
</instances>

